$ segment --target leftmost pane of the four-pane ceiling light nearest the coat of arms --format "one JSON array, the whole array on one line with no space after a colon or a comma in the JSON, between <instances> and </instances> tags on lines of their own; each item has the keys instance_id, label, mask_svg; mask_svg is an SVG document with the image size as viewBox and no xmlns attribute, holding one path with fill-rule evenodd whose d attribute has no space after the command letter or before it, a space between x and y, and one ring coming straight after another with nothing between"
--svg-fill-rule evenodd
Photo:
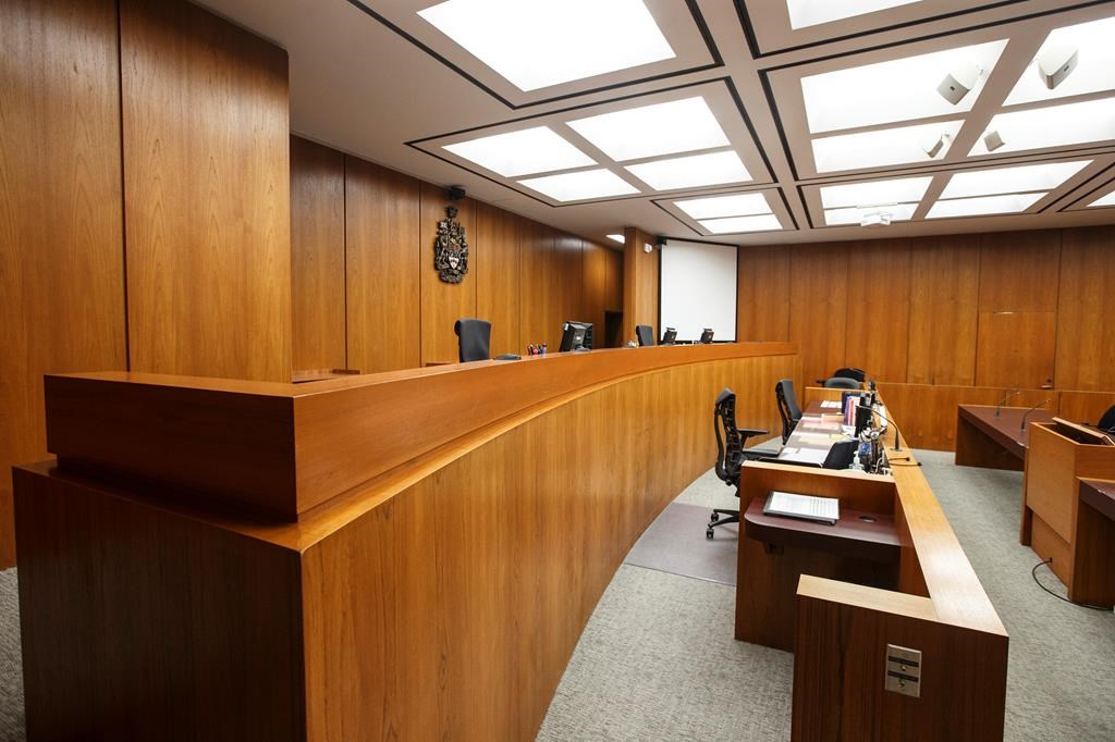
<instances>
[{"instance_id":1,"label":"leftmost pane of the four-pane ceiling light nearest the coat of arms","mask_svg":"<svg viewBox=\"0 0 1115 742\"><path fill-rule=\"evenodd\" d=\"M504 177L597 164L546 126L458 141L445 149Z\"/></svg>"}]
</instances>

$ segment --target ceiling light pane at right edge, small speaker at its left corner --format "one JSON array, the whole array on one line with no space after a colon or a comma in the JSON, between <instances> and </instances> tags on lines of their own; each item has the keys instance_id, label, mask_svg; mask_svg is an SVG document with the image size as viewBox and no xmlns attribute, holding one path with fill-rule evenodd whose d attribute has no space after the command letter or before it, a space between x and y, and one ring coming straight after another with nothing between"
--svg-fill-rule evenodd
<instances>
[{"instance_id":1,"label":"ceiling light pane at right edge, small speaker at its left corner","mask_svg":"<svg viewBox=\"0 0 1115 742\"><path fill-rule=\"evenodd\" d=\"M1115 139L1115 98L999 114L988 128L1002 136L1004 145L995 150L997 155L1107 141ZM986 154L987 145L980 137L969 156Z\"/></svg>"}]
</instances>

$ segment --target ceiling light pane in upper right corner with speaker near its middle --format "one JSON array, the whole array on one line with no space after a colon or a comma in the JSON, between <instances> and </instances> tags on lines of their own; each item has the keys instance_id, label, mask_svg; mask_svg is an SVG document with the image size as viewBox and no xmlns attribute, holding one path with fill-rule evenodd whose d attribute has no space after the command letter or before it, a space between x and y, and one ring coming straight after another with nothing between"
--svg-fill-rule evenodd
<instances>
[{"instance_id":1,"label":"ceiling light pane in upper right corner with speaker near its middle","mask_svg":"<svg viewBox=\"0 0 1115 742\"><path fill-rule=\"evenodd\" d=\"M1067 96L1115 89L1115 17L1054 29L1038 49L1034 61L1022 71L1015 89L1007 96L1007 106L1051 100ZM1038 59L1058 49L1075 49L1079 64L1064 82L1050 90L1038 71Z\"/></svg>"}]
</instances>

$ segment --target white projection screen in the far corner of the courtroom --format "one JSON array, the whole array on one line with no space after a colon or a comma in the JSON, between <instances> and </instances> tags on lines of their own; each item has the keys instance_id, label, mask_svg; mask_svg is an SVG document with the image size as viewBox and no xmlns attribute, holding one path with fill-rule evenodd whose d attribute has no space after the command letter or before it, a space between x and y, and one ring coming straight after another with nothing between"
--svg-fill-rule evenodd
<instances>
[{"instance_id":1,"label":"white projection screen in the far corner of the courtroom","mask_svg":"<svg viewBox=\"0 0 1115 742\"><path fill-rule=\"evenodd\" d=\"M658 335L666 328L678 340L700 340L712 328L714 340L736 341L737 248L668 241L662 246Z\"/></svg>"}]
</instances>

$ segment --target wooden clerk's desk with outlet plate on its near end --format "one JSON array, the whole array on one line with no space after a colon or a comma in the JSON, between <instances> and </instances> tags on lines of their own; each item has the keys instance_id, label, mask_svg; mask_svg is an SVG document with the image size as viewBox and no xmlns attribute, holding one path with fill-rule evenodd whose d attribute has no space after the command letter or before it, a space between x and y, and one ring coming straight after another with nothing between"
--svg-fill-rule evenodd
<instances>
[{"instance_id":1,"label":"wooden clerk's desk with outlet plate on its near end","mask_svg":"<svg viewBox=\"0 0 1115 742\"><path fill-rule=\"evenodd\" d=\"M804 402L841 394L809 388ZM770 490L838 497L892 517L899 554L892 572L865 573L832 549L741 537L736 637L793 648L794 740L1001 740L1007 632L909 449L888 457L889 477L744 465L741 511ZM923 653L920 697L884 690L889 644Z\"/></svg>"}]
</instances>

